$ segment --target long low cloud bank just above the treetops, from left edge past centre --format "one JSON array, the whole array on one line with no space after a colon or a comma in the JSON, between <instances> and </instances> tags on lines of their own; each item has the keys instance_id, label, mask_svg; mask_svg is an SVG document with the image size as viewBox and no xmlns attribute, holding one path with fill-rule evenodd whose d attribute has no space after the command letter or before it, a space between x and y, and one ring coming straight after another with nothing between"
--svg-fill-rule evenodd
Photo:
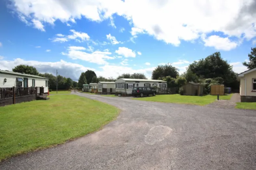
<instances>
[{"instance_id":1,"label":"long low cloud bank just above the treetops, from left edge past centre","mask_svg":"<svg viewBox=\"0 0 256 170\"><path fill-rule=\"evenodd\" d=\"M78 81L78 78L81 72L85 72L87 70L93 70L97 74L97 76L103 77L113 77L116 78L123 73L143 73L146 77L150 78L154 67L146 68L146 69L133 69L128 66L118 66L118 65L110 65L106 64L104 66L100 66L98 70L94 68L89 68L82 66L80 64L75 64L72 62L66 62L64 60L60 60L58 62L39 62L34 60L22 60L17 58L12 61L0 60L0 65L2 66L1 70L12 70L15 66L25 64L29 66L34 66L40 73L52 73L56 74L56 69L59 74L65 77L70 77L74 81Z\"/></svg>"}]
</instances>

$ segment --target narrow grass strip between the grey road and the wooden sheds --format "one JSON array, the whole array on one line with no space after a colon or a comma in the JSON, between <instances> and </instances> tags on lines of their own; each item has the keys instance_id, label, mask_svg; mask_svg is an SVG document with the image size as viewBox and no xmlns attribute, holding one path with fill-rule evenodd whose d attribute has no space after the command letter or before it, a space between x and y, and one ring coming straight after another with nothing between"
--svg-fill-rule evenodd
<instances>
[{"instance_id":1,"label":"narrow grass strip between the grey road and the wooden sheds","mask_svg":"<svg viewBox=\"0 0 256 170\"><path fill-rule=\"evenodd\" d=\"M220 100L230 100L232 94L219 96ZM135 100L145 100L152 102L166 102L166 103L180 103L180 104L196 104L196 105L206 105L214 102L217 99L217 96L180 96L179 94L166 94L166 95L157 95L150 97L137 97L133 98Z\"/></svg>"}]
</instances>

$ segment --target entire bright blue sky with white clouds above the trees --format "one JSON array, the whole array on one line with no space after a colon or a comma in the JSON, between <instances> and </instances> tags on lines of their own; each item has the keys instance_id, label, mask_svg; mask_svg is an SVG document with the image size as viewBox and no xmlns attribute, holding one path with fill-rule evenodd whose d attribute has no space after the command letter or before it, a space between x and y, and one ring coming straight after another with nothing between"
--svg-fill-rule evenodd
<instances>
[{"instance_id":1,"label":"entire bright blue sky with white clouds above the trees","mask_svg":"<svg viewBox=\"0 0 256 170\"><path fill-rule=\"evenodd\" d=\"M87 69L150 78L159 64L172 63L182 73L220 51L235 72L246 70L241 63L256 46L256 12L249 10L255 2L191 0L189 8L184 2L0 1L0 69L28 64L74 80Z\"/></svg>"}]
</instances>

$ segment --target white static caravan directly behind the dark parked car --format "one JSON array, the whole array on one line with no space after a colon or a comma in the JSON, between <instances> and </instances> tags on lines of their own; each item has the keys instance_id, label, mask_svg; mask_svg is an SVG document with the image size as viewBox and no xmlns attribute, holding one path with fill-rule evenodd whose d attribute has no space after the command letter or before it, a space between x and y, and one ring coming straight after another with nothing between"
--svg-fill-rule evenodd
<instances>
[{"instance_id":1,"label":"white static caravan directly behind the dark parked car","mask_svg":"<svg viewBox=\"0 0 256 170\"><path fill-rule=\"evenodd\" d=\"M118 79L115 81L115 90L120 94L132 94L133 87L153 87L157 86L160 89L167 88L167 81L163 80L148 80L148 79Z\"/></svg>"}]
</instances>

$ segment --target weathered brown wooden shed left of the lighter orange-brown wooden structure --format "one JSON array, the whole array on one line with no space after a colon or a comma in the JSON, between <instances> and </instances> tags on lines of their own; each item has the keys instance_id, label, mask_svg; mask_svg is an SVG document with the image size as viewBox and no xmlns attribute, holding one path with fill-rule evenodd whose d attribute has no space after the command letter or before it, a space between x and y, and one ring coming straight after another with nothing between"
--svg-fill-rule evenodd
<instances>
[{"instance_id":1,"label":"weathered brown wooden shed left of the lighter orange-brown wooden structure","mask_svg":"<svg viewBox=\"0 0 256 170\"><path fill-rule=\"evenodd\" d=\"M204 85L199 83L187 83L183 86L184 95L187 96L203 96Z\"/></svg>"}]
</instances>

